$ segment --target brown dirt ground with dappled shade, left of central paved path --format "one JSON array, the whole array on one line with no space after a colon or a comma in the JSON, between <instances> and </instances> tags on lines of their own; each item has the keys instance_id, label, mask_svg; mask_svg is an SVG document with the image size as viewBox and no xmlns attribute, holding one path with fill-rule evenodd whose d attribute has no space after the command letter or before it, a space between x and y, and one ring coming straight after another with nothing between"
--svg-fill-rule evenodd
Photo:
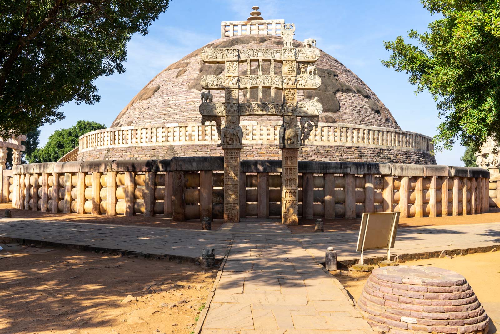
<instances>
[{"instance_id":1,"label":"brown dirt ground with dappled shade, left of central paved path","mask_svg":"<svg viewBox=\"0 0 500 334\"><path fill-rule=\"evenodd\" d=\"M0 246L2 334L190 333L216 274L191 263Z\"/></svg>"}]
</instances>

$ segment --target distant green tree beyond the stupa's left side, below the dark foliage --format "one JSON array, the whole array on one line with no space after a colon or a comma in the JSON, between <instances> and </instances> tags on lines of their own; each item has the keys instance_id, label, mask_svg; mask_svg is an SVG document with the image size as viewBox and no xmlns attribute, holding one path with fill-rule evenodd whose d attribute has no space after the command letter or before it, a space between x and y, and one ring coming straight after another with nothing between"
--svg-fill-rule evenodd
<instances>
[{"instance_id":1,"label":"distant green tree beyond the stupa's left side, below the dark foliage","mask_svg":"<svg viewBox=\"0 0 500 334\"><path fill-rule=\"evenodd\" d=\"M29 163L35 162L56 162L64 154L78 146L78 138L87 132L105 129L104 124L90 121L78 121L69 129L55 130L42 148L35 149L27 160Z\"/></svg>"}]
</instances>

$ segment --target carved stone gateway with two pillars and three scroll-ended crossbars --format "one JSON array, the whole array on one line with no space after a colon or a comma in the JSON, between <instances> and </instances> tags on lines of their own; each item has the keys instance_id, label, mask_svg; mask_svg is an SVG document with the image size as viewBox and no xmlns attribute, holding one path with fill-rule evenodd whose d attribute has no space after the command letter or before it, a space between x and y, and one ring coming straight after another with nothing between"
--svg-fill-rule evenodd
<instances>
[{"instance_id":1,"label":"carved stone gateway with two pillars and three scroll-ended crossbars","mask_svg":"<svg viewBox=\"0 0 500 334\"><path fill-rule=\"evenodd\" d=\"M260 19L253 19L261 20ZM293 46L294 24L280 24L283 48L233 49L205 48L201 59L205 63L225 64L219 76L204 75L200 84L207 90L225 90L224 102L213 102L210 91L201 92L199 113L201 123L215 122L221 146L224 149L224 221L239 221L239 163L243 131L240 116L272 115L281 117L279 147L281 149L281 221L298 224L298 149L305 145L311 131L317 127L323 107L317 98L297 103L297 89L316 89L321 84L312 63L319 59L315 40L306 39L303 48ZM270 63L270 73L262 73L262 63ZM258 62L258 74L250 75L252 62ZM274 64L282 64L281 76L274 74ZM239 64L246 64L246 75L239 76ZM299 71L297 71L297 65ZM246 102L239 103L239 90L246 90ZM251 101L251 89L258 90L257 101ZM262 101L263 89L270 89L270 101ZM275 90L282 90L282 101L274 101ZM297 120L300 117L300 121ZM220 128L221 117L225 118Z\"/></svg>"}]
</instances>

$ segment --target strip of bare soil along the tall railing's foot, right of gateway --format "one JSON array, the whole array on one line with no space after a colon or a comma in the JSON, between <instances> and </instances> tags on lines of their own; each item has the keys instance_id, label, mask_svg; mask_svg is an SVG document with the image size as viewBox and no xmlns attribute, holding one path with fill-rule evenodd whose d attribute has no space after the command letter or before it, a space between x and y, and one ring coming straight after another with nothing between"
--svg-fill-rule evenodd
<instances>
[{"instance_id":1,"label":"strip of bare soil along the tall railing's foot, right of gateway","mask_svg":"<svg viewBox=\"0 0 500 334\"><path fill-rule=\"evenodd\" d=\"M468 216L447 216L435 218L400 218L399 227L460 225L500 222L500 209L489 208L490 212ZM323 219L324 231L352 231L359 230L361 218L356 219ZM288 226L293 233L314 232L314 219L300 220L298 225Z\"/></svg>"}]
</instances>

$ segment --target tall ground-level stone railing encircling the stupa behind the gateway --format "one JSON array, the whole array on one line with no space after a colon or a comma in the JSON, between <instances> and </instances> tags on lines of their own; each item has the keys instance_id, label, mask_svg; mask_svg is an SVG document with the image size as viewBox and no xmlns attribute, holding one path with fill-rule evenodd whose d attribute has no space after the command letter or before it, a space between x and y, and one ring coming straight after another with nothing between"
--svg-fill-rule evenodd
<instances>
[{"instance_id":1,"label":"tall ground-level stone railing encircling the stupa behind the gateway","mask_svg":"<svg viewBox=\"0 0 500 334\"><path fill-rule=\"evenodd\" d=\"M218 219L223 166L223 157L20 165L10 198L26 210ZM242 160L240 171L241 217L279 216L281 161ZM298 172L303 219L383 211L400 211L402 217L468 215L489 207L489 173L480 168L299 161Z\"/></svg>"}]
</instances>

